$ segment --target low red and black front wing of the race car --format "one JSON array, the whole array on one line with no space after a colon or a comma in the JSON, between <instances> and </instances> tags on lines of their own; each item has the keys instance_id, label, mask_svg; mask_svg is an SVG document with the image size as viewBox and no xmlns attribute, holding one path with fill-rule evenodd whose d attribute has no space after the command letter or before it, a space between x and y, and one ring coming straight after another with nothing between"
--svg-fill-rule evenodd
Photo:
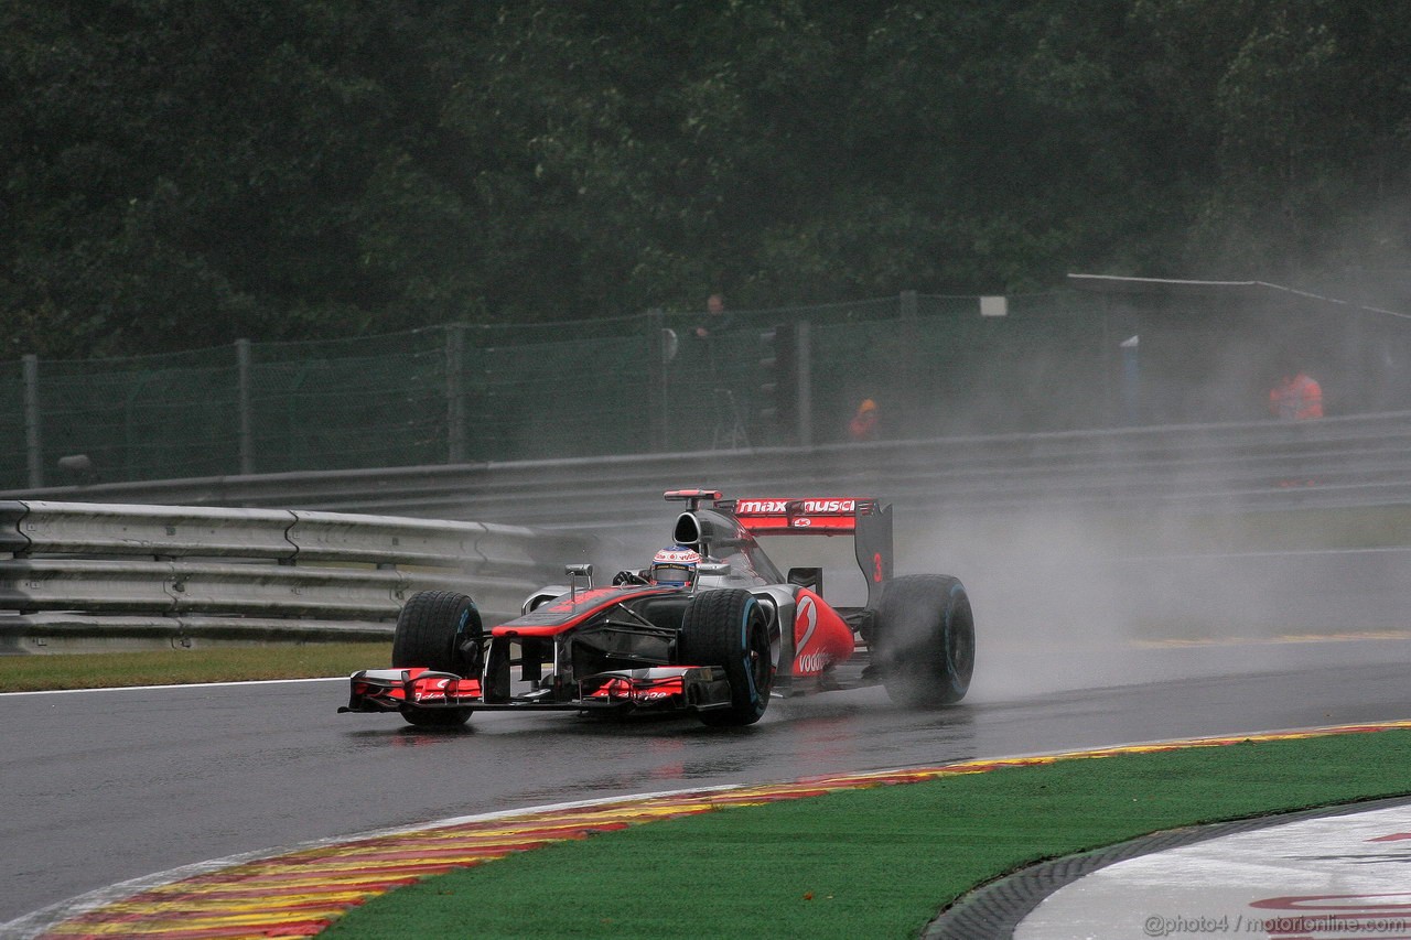
<instances>
[{"instance_id":1,"label":"low red and black front wing of the race car","mask_svg":"<svg viewBox=\"0 0 1411 940\"><path fill-rule=\"evenodd\" d=\"M569 697L555 697L550 689L540 689L498 701L485 701L480 679L422 668L364 669L353 673L350 683L349 703L339 711L708 711L729 704L729 682L720 666L653 666L601 672L579 680Z\"/></svg>"}]
</instances>

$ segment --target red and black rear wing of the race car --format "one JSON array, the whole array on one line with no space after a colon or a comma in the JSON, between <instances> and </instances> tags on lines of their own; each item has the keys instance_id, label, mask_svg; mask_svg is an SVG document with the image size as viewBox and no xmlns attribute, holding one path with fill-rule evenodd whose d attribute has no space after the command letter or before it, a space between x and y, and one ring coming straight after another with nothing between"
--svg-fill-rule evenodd
<instances>
[{"instance_id":1,"label":"red and black rear wing of the race car","mask_svg":"<svg viewBox=\"0 0 1411 940\"><path fill-rule=\"evenodd\" d=\"M892 580L892 504L871 497L715 500L751 535L851 535L875 605Z\"/></svg>"}]
</instances>

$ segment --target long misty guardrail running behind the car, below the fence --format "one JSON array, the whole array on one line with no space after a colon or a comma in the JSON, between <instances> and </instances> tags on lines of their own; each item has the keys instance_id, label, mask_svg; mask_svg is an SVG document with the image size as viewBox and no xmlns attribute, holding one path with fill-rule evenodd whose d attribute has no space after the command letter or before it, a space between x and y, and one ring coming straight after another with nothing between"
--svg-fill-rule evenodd
<instances>
[{"instance_id":1,"label":"long misty guardrail running behind the car, below the fence","mask_svg":"<svg viewBox=\"0 0 1411 940\"><path fill-rule=\"evenodd\" d=\"M945 512L1411 501L1411 412L55 487L13 498L301 507L555 529L660 519L665 488L868 491Z\"/></svg>"}]
</instances>

